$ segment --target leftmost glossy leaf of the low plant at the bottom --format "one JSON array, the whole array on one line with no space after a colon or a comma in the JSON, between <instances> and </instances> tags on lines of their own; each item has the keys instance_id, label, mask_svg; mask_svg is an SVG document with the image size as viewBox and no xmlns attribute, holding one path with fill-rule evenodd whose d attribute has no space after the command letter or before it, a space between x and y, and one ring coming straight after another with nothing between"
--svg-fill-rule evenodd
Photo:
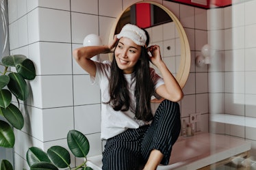
<instances>
[{"instance_id":1,"label":"leftmost glossy leaf of the low plant at the bottom","mask_svg":"<svg viewBox=\"0 0 256 170\"><path fill-rule=\"evenodd\" d=\"M47 153L45 153L39 147L29 147L29 150L27 150L27 164L29 167L31 167L31 165L34 165L38 162L50 163L51 160L47 156Z\"/></svg>"}]
</instances>

